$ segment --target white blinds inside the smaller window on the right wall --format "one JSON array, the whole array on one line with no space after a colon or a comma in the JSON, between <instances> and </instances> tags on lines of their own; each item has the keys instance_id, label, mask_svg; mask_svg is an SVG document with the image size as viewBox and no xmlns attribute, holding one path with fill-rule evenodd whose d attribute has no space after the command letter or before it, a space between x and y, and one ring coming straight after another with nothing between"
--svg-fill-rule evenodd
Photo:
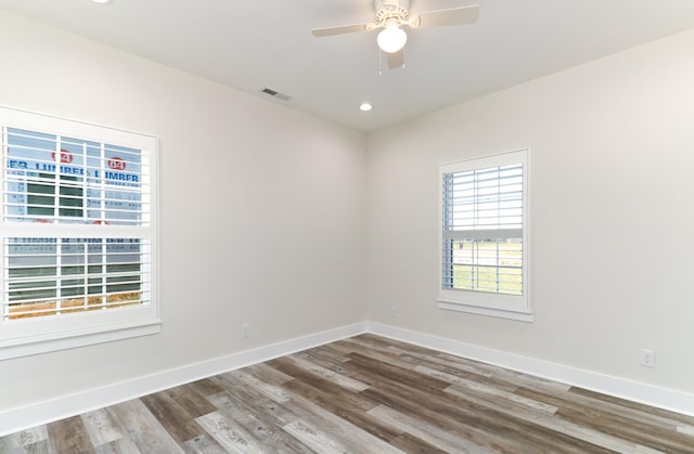
<instances>
[{"instance_id":1,"label":"white blinds inside the smaller window on the right wall","mask_svg":"<svg viewBox=\"0 0 694 454\"><path fill-rule=\"evenodd\" d=\"M444 166L441 183L442 289L523 295L523 160Z\"/></svg>"}]
</instances>

